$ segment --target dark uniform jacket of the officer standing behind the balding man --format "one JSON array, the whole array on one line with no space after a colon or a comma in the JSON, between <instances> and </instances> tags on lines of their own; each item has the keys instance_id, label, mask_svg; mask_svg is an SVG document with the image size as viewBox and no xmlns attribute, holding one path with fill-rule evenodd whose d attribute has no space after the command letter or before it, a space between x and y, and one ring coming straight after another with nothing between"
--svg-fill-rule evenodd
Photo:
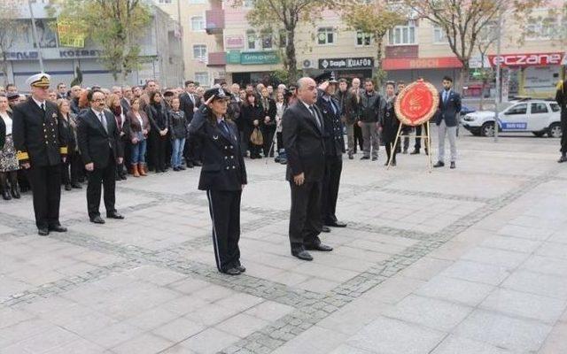
<instances>
[{"instance_id":1,"label":"dark uniform jacket of the officer standing behind the balding man","mask_svg":"<svg viewBox=\"0 0 567 354\"><path fill-rule=\"evenodd\" d=\"M334 112L330 101L335 105L337 112ZM325 129L323 131L325 155L329 157L340 157L343 152L345 152L343 124L340 121L340 105L334 97L330 97L330 101L325 100L325 98L323 98L323 92L318 90L317 106L319 110L321 110L322 117L325 120Z\"/></svg>"}]
</instances>

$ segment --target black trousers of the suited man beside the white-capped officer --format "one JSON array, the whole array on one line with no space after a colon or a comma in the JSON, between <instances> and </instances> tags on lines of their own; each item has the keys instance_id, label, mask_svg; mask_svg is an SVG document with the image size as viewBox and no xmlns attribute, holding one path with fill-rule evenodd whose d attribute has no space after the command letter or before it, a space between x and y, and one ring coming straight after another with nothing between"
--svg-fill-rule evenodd
<instances>
[{"instance_id":1,"label":"black trousers of the suited man beside the white-capped officer","mask_svg":"<svg viewBox=\"0 0 567 354\"><path fill-rule=\"evenodd\" d=\"M114 190L116 188L116 161L111 151L111 156L108 158L108 165L104 168L95 167L89 172L89 184L87 185L87 210L89 218L100 216L98 209L100 207L101 187L105 188L105 208L106 213L116 212L114 203L116 197Z\"/></svg>"}]
</instances>

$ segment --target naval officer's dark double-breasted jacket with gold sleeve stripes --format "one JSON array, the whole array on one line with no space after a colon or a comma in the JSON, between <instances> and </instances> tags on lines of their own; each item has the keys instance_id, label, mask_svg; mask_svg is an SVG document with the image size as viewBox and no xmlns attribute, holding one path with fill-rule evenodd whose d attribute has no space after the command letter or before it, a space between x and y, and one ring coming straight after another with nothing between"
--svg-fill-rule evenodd
<instances>
[{"instance_id":1,"label":"naval officer's dark double-breasted jacket with gold sleeve stripes","mask_svg":"<svg viewBox=\"0 0 567 354\"><path fill-rule=\"evenodd\" d=\"M30 96L13 108L12 139L20 164L59 165L67 153L57 105L45 101L45 112Z\"/></svg>"}]
</instances>

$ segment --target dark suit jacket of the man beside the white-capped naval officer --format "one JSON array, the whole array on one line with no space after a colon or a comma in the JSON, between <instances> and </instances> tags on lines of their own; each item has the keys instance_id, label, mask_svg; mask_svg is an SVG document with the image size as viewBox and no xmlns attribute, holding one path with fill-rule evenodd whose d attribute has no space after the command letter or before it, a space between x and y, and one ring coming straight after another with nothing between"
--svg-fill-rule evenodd
<instances>
[{"instance_id":1,"label":"dark suit jacket of the man beside the white-capped naval officer","mask_svg":"<svg viewBox=\"0 0 567 354\"><path fill-rule=\"evenodd\" d=\"M87 165L94 163L95 168L105 168L108 164L116 164L118 158L124 157L122 144L119 143L120 133L116 126L116 120L111 112L104 111L106 127L98 119L97 115L89 109L83 111L77 127L77 140L81 150L82 162ZM114 160L110 160L113 154Z\"/></svg>"}]
</instances>

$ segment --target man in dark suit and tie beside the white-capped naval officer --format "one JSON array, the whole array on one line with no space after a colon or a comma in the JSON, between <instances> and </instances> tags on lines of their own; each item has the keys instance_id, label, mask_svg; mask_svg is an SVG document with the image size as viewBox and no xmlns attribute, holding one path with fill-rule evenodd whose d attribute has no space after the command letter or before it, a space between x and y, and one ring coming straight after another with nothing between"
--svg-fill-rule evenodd
<instances>
[{"instance_id":1,"label":"man in dark suit and tie beside the white-capped naval officer","mask_svg":"<svg viewBox=\"0 0 567 354\"><path fill-rule=\"evenodd\" d=\"M100 217L101 184L105 186L106 217L124 219L114 208L116 186L116 166L124 157L120 144L120 132L111 112L105 111L105 94L91 90L87 95L90 109L82 112L77 127L77 140L82 161L89 172L87 186L87 208L89 219L96 224L104 224Z\"/></svg>"}]
</instances>

